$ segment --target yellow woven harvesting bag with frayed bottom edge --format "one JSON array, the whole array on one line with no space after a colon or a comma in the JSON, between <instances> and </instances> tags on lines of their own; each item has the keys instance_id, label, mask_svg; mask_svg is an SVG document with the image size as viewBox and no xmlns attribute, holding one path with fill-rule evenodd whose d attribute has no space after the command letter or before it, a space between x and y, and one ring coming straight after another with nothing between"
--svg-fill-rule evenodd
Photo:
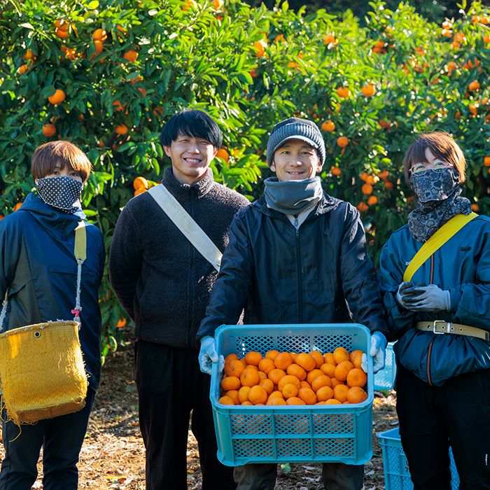
<instances>
[{"instance_id":1,"label":"yellow woven harvesting bag with frayed bottom edge","mask_svg":"<svg viewBox=\"0 0 490 490\"><path fill-rule=\"evenodd\" d=\"M77 412L87 374L76 321L50 321L0 334L0 384L8 419L29 423Z\"/></svg>"}]
</instances>

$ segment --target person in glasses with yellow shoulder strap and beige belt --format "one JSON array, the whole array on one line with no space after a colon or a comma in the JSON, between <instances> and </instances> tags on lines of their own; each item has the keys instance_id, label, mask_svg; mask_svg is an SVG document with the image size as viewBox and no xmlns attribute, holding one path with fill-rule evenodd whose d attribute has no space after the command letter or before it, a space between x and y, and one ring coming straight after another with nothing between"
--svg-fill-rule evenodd
<instances>
[{"instance_id":1,"label":"person in glasses with yellow shoulder strap and beige belt","mask_svg":"<svg viewBox=\"0 0 490 490\"><path fill-rule=\"evenodd\" d=\"M417 205L379 261L402 447L416 489L451 489L449 445L459 488L490 489L490 219L461 196L449 134L419 137L403 165Z\"/></svg>"}]
</instances>

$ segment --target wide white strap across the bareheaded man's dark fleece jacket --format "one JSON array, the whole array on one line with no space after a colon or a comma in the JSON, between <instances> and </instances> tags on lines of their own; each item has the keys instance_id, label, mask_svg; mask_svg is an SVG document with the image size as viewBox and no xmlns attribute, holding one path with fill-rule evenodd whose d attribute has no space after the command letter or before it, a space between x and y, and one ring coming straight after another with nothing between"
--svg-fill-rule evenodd
<instances>
[{"instance_id":1,"label":"wide white strap across the bareheaded man's dark fleece jacket","mask_svg":"<svg viewBox=\"0 0 490 490\"><path fill-rule=\"evenodd\" d=\"M197 251L219 272L223 254L204 233L202 228L190 217L188 212L183 209L180 202L162 184L150 188L148 193L172 220L174 225L195 246Z\"/></svg>"}]
</instances>

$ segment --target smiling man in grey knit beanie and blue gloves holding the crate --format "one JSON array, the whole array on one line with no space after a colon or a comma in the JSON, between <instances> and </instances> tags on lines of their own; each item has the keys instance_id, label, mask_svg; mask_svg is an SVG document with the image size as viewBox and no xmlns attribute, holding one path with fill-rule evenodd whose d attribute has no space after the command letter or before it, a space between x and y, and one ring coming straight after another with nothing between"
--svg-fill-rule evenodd
<instances>
[{"instance_id":1,"label":"smiling man in grey knit beanie and blue gloves holding the crate","mask_svg":"<svg viewBox=\"0 0 490 490\"><path fill-rule=\"evenodd\" d=\"M314 123L289 118L274 126L267 163L276 177L235 216L197 332L203 372L216 362L214 330L237 323L242 309L248 324L363 323L372 332L374 371L384 367L386 324L363 224L355 207L323 192L316 174L324 162ZM237 489L272 490L276 474L275 463L238 466ZM324 463L322 475L328 490L363 488L362 465Z\"/></svg>"}]
</instances>

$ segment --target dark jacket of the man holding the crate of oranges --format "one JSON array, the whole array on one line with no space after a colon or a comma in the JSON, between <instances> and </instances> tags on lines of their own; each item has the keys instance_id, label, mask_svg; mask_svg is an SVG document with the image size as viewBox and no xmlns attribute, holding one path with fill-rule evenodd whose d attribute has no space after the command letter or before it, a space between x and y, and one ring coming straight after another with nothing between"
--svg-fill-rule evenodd
<instances>
[{"instance_id":1,"label":"dark jacket of the man holding the crate of oranges","mask_svg":"<svg viewBox=\"0 0 490 490\"><path fill-rule=\"evenodd\" d=\"M386 334L359 213L323 195L299 230L265 197L239 211L198 337L223 324L362 323Z\"/></svg>"}]
</instances>

